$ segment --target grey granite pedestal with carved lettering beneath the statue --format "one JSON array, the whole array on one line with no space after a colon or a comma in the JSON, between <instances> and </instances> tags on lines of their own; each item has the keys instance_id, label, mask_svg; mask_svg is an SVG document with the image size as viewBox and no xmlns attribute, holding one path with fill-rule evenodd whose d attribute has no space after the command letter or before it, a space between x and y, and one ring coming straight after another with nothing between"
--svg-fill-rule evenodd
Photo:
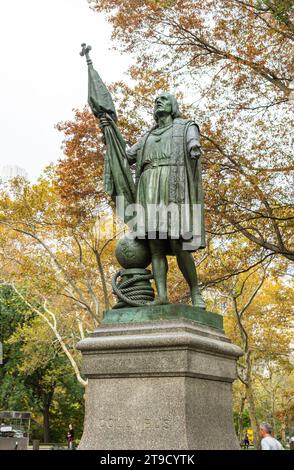
<instances>
[{"instance_id":1,"label":"grey granite pedestal with carved lettering beneath the statue","mask_svg":"<svg viewBox=\"0 0 294 470\"><path fill-rule=\"evenodd\" d=\"M242 352L221 329L105 323L78 348L89 379L80 449L239 448L231 394Z\"/></svg>"}]
</instances>

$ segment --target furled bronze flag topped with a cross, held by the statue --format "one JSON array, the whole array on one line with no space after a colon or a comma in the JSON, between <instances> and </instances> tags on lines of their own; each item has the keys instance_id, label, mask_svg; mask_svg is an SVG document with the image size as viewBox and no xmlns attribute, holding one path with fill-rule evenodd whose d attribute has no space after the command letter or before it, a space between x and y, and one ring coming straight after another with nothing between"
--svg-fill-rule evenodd
<instances>
[{"instance_id":1,"label":"furled bronze flag topped with a cross, held by the statue","mask_svg":"<svg viewBox=\"0 0 294 470\"><path fill-rule=\"evenodd\" d=\"M117 196L123 196L126 208L135 202L135 184L126 156L126 143L116 125L117 115L111 94L93 67L89 55L91 49L83 43L80 55L86 57L88 64L88 103L100 121L106 144L104 189L115 202Z\"/></svg>"}]
</instances>

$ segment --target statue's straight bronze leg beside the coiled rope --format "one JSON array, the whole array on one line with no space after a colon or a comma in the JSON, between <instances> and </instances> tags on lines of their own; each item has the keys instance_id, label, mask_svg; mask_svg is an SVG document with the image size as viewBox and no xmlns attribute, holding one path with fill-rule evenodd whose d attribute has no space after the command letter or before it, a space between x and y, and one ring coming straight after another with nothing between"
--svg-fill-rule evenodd
<instances>
[{"instance_id":1,"label":"statue's straight bronze leg beside the coiled rope","mask_svg":"<svg viewBox=\"0 0 294 470\"><path fill-rule=\"evenodd\" d=\"M157 298L152 305L168 304L166 278L168 271L168 263L165 251L163 249L162 240L148 240L152 255L152 270L157 288Z\"/></svg>"}]
</instances>

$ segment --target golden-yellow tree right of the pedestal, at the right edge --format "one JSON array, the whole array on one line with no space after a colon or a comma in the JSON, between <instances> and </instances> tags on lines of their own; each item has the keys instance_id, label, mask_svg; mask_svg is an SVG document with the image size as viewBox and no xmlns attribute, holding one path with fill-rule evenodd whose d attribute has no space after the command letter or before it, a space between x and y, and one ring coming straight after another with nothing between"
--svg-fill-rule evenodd
<instances>
[{"instance_id":1,"label":"golden-yellow tree right of the pedestal, at the right edge","mask_svg":"<svg viewBox=\"0 0 294 470\"><path fill-rule=\"evenodd\" d=\"M249 273L230 278L219 288L227 297L226 332L244 351L238 365L238 377L244 387L240 394L240 408L242 414L245 405L248 407L257 448L259 413L256 381L259 378L266 382L269 363L273 368L279 364L282 375L286 375L289 369L292 290L286 279L275 280L269 264L259 265ZM282 385L281 388L285 390ZM267 410L267 420L269 415L272 421L275 410Z\"/></svg>"}]
</instances>

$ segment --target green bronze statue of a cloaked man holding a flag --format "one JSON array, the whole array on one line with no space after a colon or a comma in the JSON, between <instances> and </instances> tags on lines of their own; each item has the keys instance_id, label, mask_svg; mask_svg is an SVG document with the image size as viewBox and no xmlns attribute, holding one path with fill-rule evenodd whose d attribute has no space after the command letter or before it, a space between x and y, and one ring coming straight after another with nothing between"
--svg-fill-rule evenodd
<instances>
[{"instance_id":1,"label":"green bronze statue of a cloaked man holding a flag","mask_svg":"<svg viewBox=\"0 0 294 470\"><path fill-rule=\"evenodd\" d=\"M134 203L139 207L135 230L134 225L132 230L135 238L142 241L140 249L146 249L147 243L152 259L157 297L153 300L152 295L148 296L147 292L152 291L149 285L151 276L143 269L145 295L137 305L146 304L148 300L153 305L168 303L166 257L172 255L177 257L178 266L189 285L192 304L205 309L191 254L205 247L199 127L194 121L181 118L173 95L161 93L154 102L154 126L135 145L127 148L116 125L111 96L89 58L90 46L82 46L81 55L86 55L89 70L88 102L100 121L106 144L105 190L114 200L118 196L124 198L127 223L131 222L128 207ZM135 165L135 181L130 165ZM118 256L119 261L120 258L122 256ZM138 269L149 264L148 254L145 258ZM124 267L130 266L132 271L124 271L126 281L122 285L126 286L126 291L132 290L133 279L136 291L140 272L134 272L133 264L126 263ZM121 306L136 305L138 301L135 299L128 303L126 296L122 298L124 304Z\"/></svg>"}]
</instances>

